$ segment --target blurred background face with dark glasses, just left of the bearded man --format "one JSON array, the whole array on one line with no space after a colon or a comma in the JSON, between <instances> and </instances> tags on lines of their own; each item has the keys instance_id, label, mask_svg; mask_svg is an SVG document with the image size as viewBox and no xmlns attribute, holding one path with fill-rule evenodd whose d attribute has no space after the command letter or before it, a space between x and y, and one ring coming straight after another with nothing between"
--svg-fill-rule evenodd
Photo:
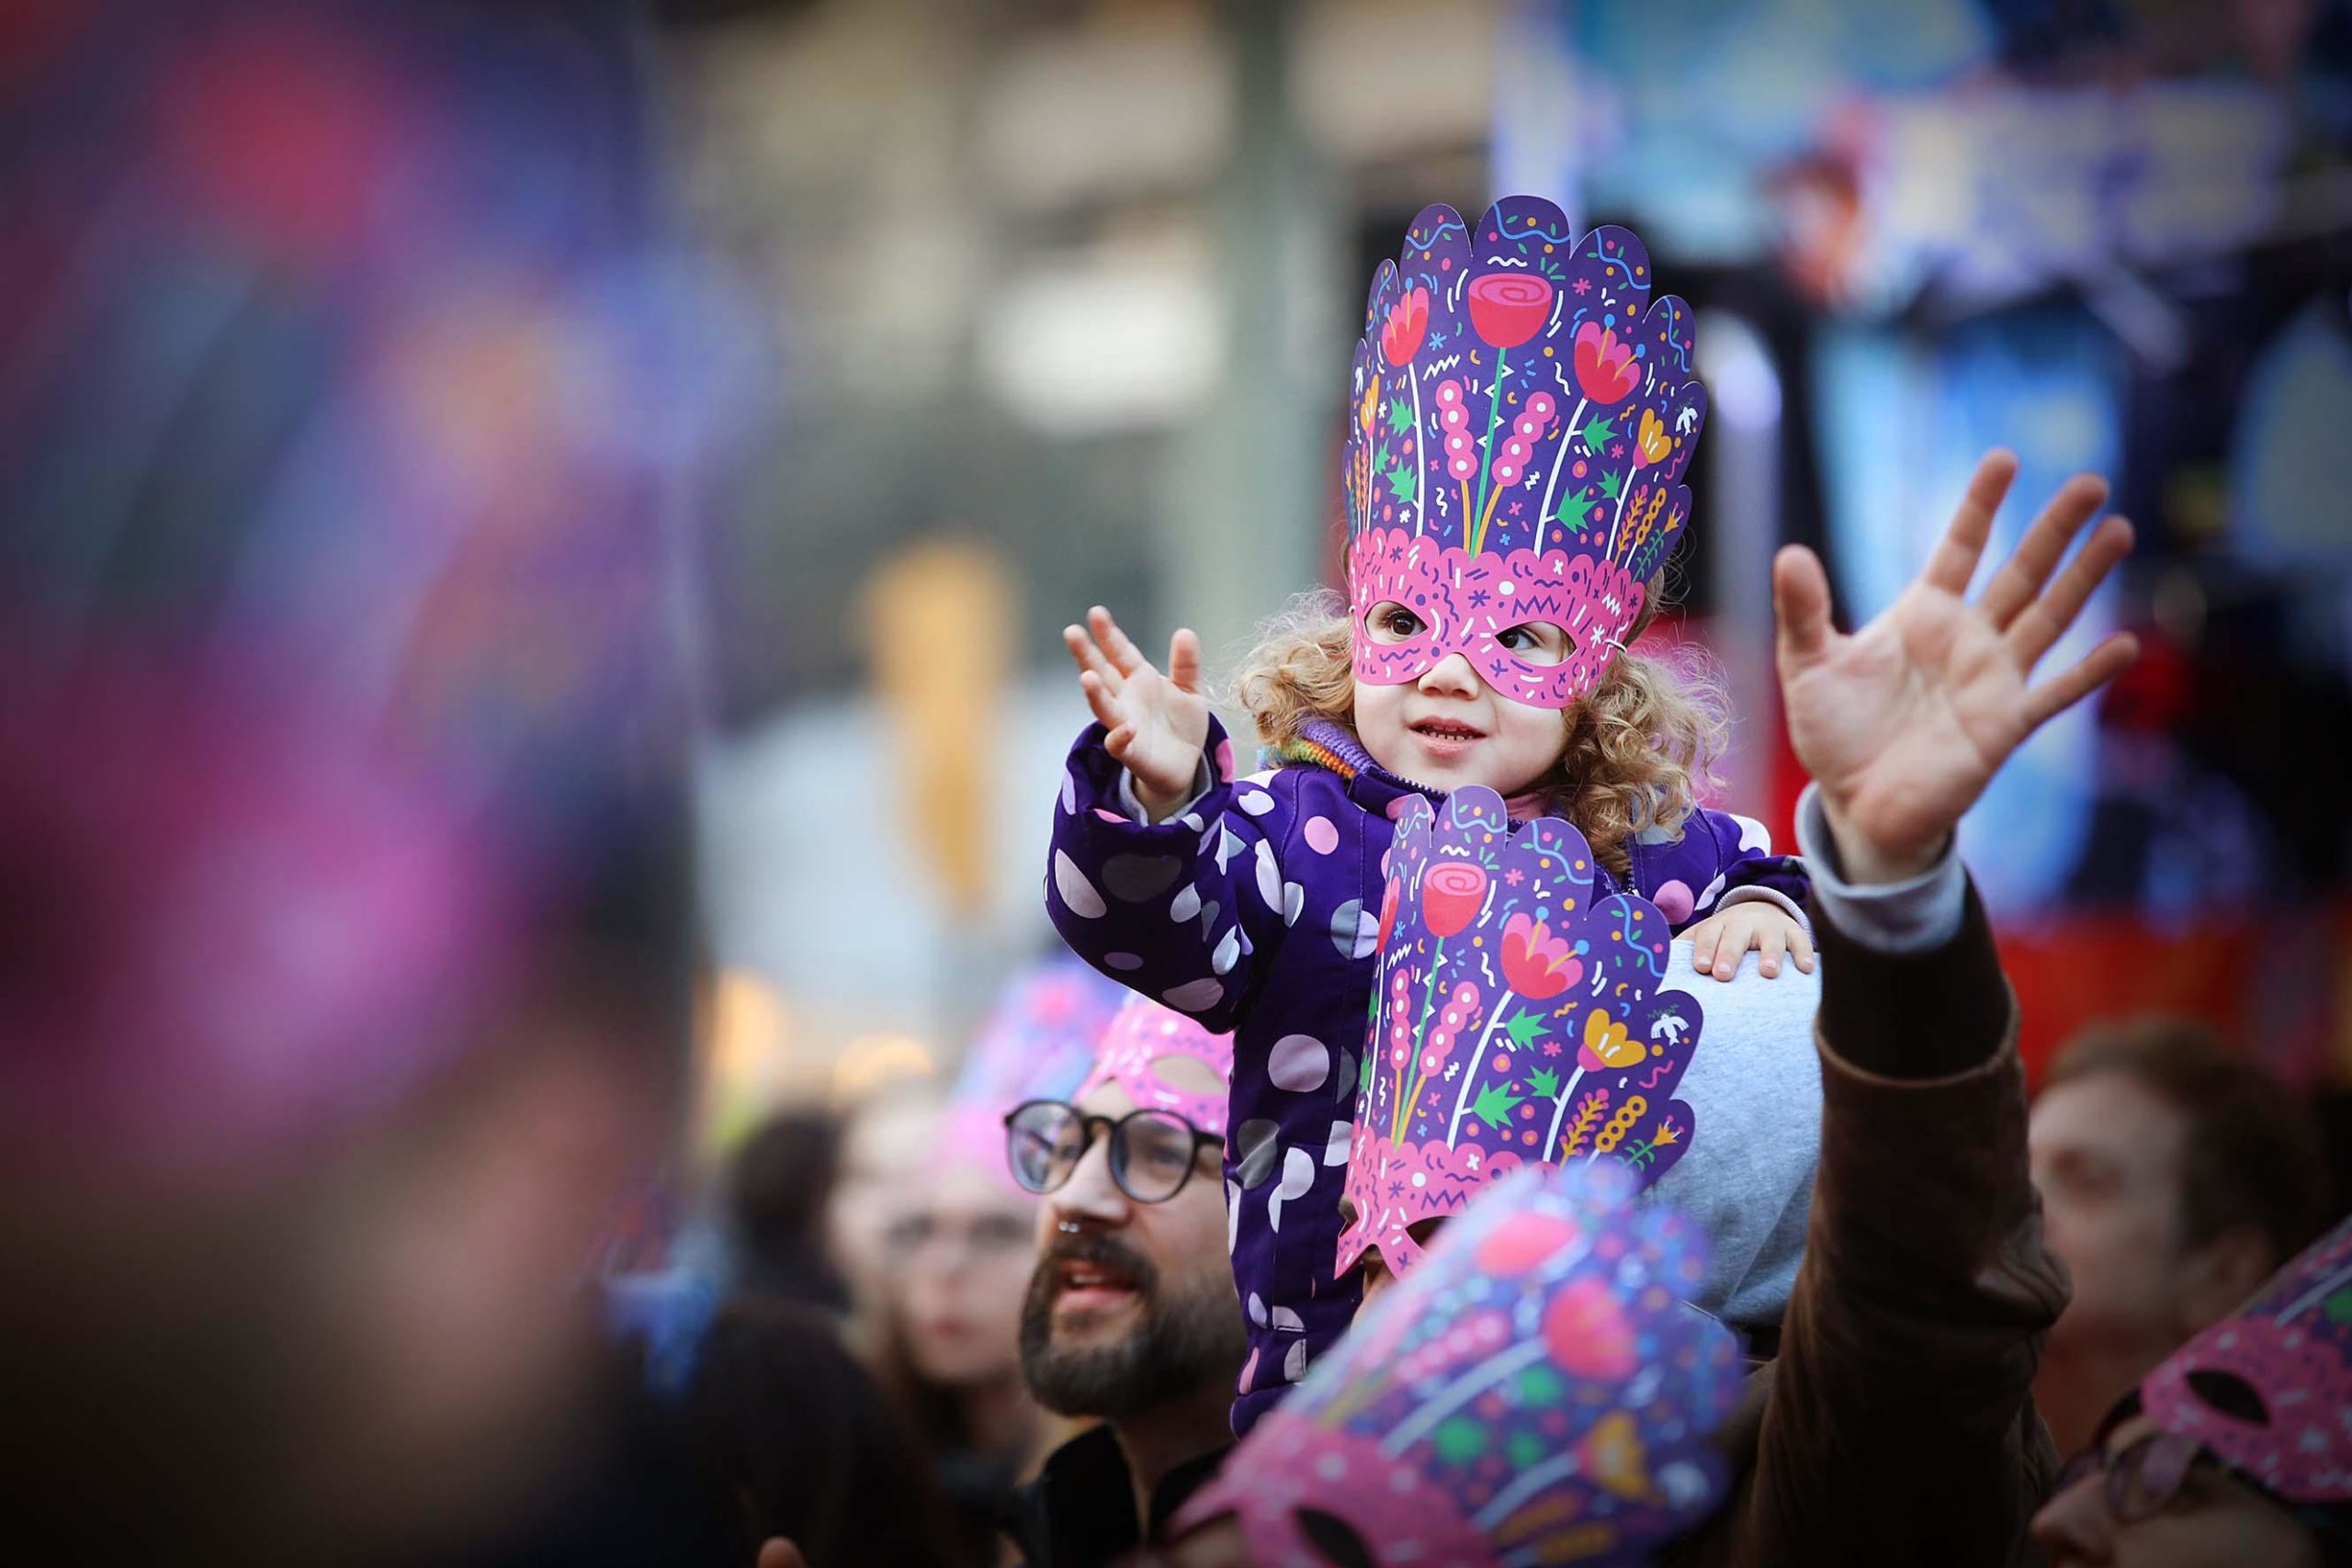
<instances>
[{"instance_id":1,"label":"blurred background face with dark glasses, just left of the bearded man","mask_svg":"<svg viewBox=\"0 0 2352 1568\"><path fill-rule=\"evenodd\" d=\"M1021 1375L1021 1300L1037 1260L1037 1199L1002 1171L936 1168L891 1229L898 1321L915 1371L950 1387Z\"/></svg>"}]
</instances>

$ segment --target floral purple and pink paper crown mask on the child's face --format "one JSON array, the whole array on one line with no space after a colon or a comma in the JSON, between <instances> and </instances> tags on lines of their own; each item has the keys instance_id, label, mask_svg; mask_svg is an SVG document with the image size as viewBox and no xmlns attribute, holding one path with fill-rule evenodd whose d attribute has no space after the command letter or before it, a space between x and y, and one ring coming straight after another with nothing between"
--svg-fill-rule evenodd
<instances>
[{"instance_id":1,"label":"floral purple and pink paper crown mask on the child's face","mask_svg":"<svg viewBox=\"0 0 2352 1568\"><path fill-rule=\"evenodd\" d=\"M1357 679L1465 654L1536 708L1599 679L1691 515L1682 470L1708 416L1691 308L1649 289L1632 230L1578 237L1534 195L1477 230L1428 207L1371 275L1341 477ZM1423 630L1374 642L1364 616L1388 599ZM1498 642L1529 621L1569 635L1566 661Z\"/></svg>"}]
</instances>

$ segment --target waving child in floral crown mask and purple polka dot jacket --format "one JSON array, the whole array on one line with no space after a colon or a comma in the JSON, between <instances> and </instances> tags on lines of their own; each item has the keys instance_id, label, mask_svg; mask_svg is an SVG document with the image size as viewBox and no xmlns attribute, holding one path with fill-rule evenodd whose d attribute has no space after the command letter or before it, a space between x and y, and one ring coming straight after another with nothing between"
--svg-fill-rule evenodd
<instances>
[{"instance_id":1,"label":"waving child in floral crown mask and purple polka dot jacket","mask_svg":"<svg viewBox=\"0 0 2352 1568\"><path fill-rule=\"evenodd\" d=\"M1383 858L1411 795L1463 785L1583 830L1729 978L1811 969L1804 875L1696 804L1719 719L1630 654L1689 517L1705 418L1689 306L1649 303L1623 228L1505 197L1430 207L1381 263L1355 353L1345 616L1291 616L1237 693L1275 762L1235 778L1176 632L1160 672L1094 609L1065 639L1094 724L1070 752L1047 910L1075 952L1232 1030L1225 1194L1247 1427L1355 1312L1334 1279ZM1705 919L1700 919L1705 917ZM1698 922L1698 924L1693 924Z\"/></svg>"}]
</instances>

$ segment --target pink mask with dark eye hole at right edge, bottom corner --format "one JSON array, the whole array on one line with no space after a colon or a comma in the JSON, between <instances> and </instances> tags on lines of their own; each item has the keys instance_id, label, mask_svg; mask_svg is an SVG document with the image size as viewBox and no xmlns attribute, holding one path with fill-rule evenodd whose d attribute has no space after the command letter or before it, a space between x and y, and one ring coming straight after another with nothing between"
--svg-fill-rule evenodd
<instances>
[{"instance_id":1,"label":"pink mask with dark eye hole at right edge, bottom corner","mask_svg":"<svg viewBox=\"0 0 2352 1568\"><path fill-rule=\"evenodd\" d=\"M2352 1220L2147 1373L2140 1408L2288 1502L2352 1502Z\"/></svg>"}]
</instances>

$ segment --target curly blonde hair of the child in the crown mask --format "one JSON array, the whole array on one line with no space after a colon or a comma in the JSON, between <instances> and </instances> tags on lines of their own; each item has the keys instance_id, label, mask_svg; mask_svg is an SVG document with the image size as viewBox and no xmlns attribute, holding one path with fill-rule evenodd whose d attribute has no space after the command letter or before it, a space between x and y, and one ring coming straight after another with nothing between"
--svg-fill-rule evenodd
<instances>
[{"instance_id":1,"label":"curly blonde hair of the child in the crown mask","mask_svg":"<svg viewBox=\"0 0 2352 1568\"><path fill-rule=\"evenodd\" d=\"M1529 785L1548 811L1576 823L1621 879L1632 875L1628 839L1649 827L1679 830L1698 809L1698 792L1719 783L1712 769L1731 726L1722 679L1700 651L1658 658L1630 649L1658 618L1661 597L1661 581L1651 578L1628 649L1588 696L1562 710L1559 762ZM1345 602L1329 590L1301 595L1258 630L1258 644L1235 670L1232 701L1268 748L1289 745L1315 717L1355 733L1352 654Z\"/></svg>"}]
</instances>

